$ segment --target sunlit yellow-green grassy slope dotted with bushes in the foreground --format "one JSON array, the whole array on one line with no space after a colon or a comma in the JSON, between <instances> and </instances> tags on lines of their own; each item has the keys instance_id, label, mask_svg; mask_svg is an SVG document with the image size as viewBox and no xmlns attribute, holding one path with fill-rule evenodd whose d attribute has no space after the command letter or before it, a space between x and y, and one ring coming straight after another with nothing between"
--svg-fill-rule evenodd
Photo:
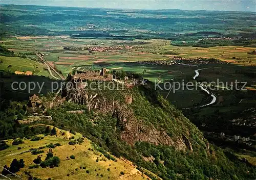
<instances>
[{"instance_id":1,"label":"sunlit yellow-green grassy slope dotted with bushes in the foreground","mask_svg":"<svg viewBox=\"0 0 256 180\"><path fill-rule=\"evenodd\" d=\"M60 132L65 132L66 135L62 136ZM40 135L44 136L44 135ZM21 169L17 174L20 176L25 176L25 171L31 171L33 176L47 179L49 177L53 179L142 179L147 178L145 175L142 176L141 172L132 165L131 162L124 159L117 159L117 162L106 159L100 152L93 148L91 142L88 139L85 139L81 145L69 145L69 137L74 136L75 139L82 137L81 134L76 133L76 135L70 134L68 131L57 129L57 136L46 136L43 140L39 141L30 141L25 140L24 144L20 145L11 145L13 140L8 140L10 147L8 149L0 151L0 165L4 166L7 164L10 165L11 161L16 159L24 159L25 168ZM58 146L53 149L54 156L60 158L61 162L59 167L55 168L41 168L38 169L28 169L30 165L33 165L33 160L36 159L37 155L32 155L31 152L23 151L29 150L30 148L38 148L40 146L45 146L50 143L60 143L61 146ZM17 147L22 147L22 149L17 150ZM46 152L49 148L44 148L44 153L42 155L42 160L46 157ZM22 154L21 154L22 153ZM75 155L75 159L67 159L71 155ZM96 159L99 159L99 162L96 162ZM86 167L86 169L80 169L80 167ZM78 168L78 170L76 170ZM110 171L108 171L110 168ZM86 171L89 170L90 173ZM125 174L120 175L120 172L123 171ZM70 174L70 176L67 176ZM99 174L97 176L96 174ZM100 176L103 174L103 177Z\"/></svg>"}]
</instances>

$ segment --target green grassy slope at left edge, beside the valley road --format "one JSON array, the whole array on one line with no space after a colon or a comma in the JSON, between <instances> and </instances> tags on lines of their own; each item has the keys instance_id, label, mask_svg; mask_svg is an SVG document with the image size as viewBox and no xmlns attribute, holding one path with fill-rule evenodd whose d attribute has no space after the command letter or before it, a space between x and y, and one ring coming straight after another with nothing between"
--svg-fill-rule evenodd
<instances>
[{"instance_id":1,"label":"green grassy slope at left edge, beside the valley road","mask_svg":"<svg viewBox=\"0 0 256 180\"><path fill-rule=\"evenodd\" d=\"M34 71L35 75L45 75L49 76L48 71L44 71L44 64L41 64L36 61L32 61L30 59L24 59L19 57L5 57L0 56L0 60L3 61L3 63L0 64L0 69L15 72L15 71ZM8 66L11 65L10 68Z\"/></svg>"}]
</instances>

